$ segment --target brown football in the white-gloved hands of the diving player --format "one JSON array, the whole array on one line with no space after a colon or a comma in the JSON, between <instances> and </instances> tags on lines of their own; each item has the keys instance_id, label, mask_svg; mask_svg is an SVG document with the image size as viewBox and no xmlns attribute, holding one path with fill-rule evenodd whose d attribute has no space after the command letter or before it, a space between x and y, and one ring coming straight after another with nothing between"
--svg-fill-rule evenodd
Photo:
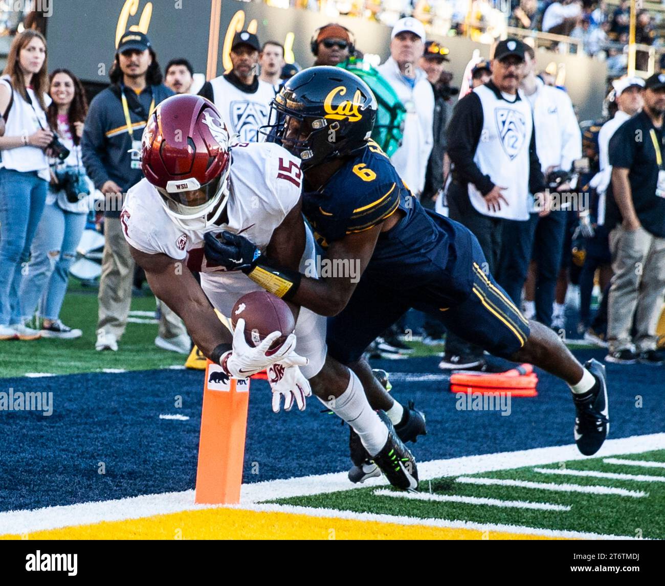
<instances>
[{"instance_id":1,"label":"brown football in the white-gloved hands of the diving player","mask_svg":"<svg viewBox=\"0 0 665 586\"><path fill-rule=\"evenodd\" d=\"M231 310L231 323L235 330L237 321L245 320L245 341L257 346L272 332L281 332L267 351L274 353L295 330L293 312L279 297L267 291L254 291L243 295L235 302Z\"/></svg>"}]
</instances>

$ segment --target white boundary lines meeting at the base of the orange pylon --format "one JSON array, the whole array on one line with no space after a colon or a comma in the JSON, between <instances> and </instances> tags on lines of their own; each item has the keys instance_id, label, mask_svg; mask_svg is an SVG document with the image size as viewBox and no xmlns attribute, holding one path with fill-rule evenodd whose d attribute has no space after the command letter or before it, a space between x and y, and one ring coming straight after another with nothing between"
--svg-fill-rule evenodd
<instances>
[{"instance_id":1,"label":"white boundary lines meeting at the base of the orange pylon","mask_svg":"<svg viewBox=\"0 0 665 586\"><path fill-rule=\"evenodd\" d=\"M639 454L650 450L665 448L665 433L642 435L621 439L607 440L599 452L599 456L614 456L621 454ZM475 474L491 470L505 470L521 466L537 466L539 464L552 464L563 460L582 460L574 445L555 446L549 448L534 448L519 452L499 452L496 454L483 454L480 456L463 456L449 460L433 460L418 464L420 478L438 478L440 476L459 476L460 474ZM384 520L390 516L363 516L347 511L329 511L308 507L285 507L282 505L257 504L261 500L274 498L287 498L290 496L306 496L366 486L385 486L386 480L370 478L360 485L350 484L346 472L334 474L321 474L305 476L302 478L289 478L288 480L268 480L243 484L241 491L241 504L237 507L250 510L284 510L303 512L313 516L333 516L338 518L368 518ZM608 487L610 488L610 487ZM620 489L617 489L620 490ZM630 492L630 491L628 491ZM634 492L634 491L633 491ZM138 519L152 515L175 513L198 508L213 508L194 503L194 490L184 492L168 492L162 494L148 494L118 500L100 502L86 502L67 506L46 507L35 510L19 510L0 512L0 535L25 534L39 530L49 530L82 524L99 523L102 521L118 521L124 519ZM415 518L390 517L392 522L404 523L410 519L409 524L423 525L428 520ZM436 526L479 528L487 530L489 526L481 524L467 524L462 521L434 520ZM495 526L499 527L499 526ZM546 530L533 528L513 528L506 526L501 531L517 533L549 535ZM496 529L499 530L499 529ZM551 532L550 532L551 533ZM577 534L575 532L557 532L562 537L597 538L594 534Z\"/></svg>"}]
</instances>

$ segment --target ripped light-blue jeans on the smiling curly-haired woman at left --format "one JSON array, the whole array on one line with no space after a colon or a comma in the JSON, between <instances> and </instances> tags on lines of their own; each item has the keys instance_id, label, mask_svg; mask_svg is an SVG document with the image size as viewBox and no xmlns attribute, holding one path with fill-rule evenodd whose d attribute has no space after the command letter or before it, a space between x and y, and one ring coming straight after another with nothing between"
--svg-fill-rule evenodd
<instances>
[{"instance_id":1,"label":"ripped light-blue jeans on the smiling curly-haired woman at left","mask_svg":"<svg viewBox=\"0 0 665 586\"><path fill-rule=\"evenodd\" d=\"M85 228L86 214L64 211L56 202L44 208L31 247L28 274L23 278L19 297L23 317L39 313L57 320L63 306L69 267L76 258L76 246Z\"/></svg>"}]
</instances>

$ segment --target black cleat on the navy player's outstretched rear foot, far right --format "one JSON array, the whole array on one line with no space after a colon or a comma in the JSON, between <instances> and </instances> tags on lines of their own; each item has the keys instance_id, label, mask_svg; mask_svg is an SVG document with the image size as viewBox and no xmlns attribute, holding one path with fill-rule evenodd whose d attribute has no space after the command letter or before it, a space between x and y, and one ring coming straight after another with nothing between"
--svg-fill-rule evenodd
<instances>
[{"instance_id":1,"label":"black cleat on the navy player's outstretched rear foot, far right","mask_svg":"<svg viewBox=\"0 0 665 586\"><path fill-rule=\"evenodd\" d=\"M607 405L607 382L605 367L599 361L591 359L585 368L593 374L596 384L591 391L583 395L573 393L575 417L575 443L585 456L593 456L602 446L610 431Z\"/></svg>"}]
</instances>

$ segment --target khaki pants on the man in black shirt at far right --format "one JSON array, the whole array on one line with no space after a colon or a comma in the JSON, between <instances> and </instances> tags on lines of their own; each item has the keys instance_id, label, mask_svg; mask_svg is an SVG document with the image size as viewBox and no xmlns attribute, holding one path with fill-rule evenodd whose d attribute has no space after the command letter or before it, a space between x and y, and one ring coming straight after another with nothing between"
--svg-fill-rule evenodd
<instances>
[{"instance_id":1,"label":"khaki pants on the man in black shirt at far right","mask_svg":"<svg viewBox=\"0 0 665 586\"><path fill-rule=\"evenodd\" d=\"M665 238L642 227L628 232L618 226L610 232L610 252L614 270L608 297L610 352L628 349L631 342L638 352L655 349L665 292Z\"/></svg>"}]
</instances>

